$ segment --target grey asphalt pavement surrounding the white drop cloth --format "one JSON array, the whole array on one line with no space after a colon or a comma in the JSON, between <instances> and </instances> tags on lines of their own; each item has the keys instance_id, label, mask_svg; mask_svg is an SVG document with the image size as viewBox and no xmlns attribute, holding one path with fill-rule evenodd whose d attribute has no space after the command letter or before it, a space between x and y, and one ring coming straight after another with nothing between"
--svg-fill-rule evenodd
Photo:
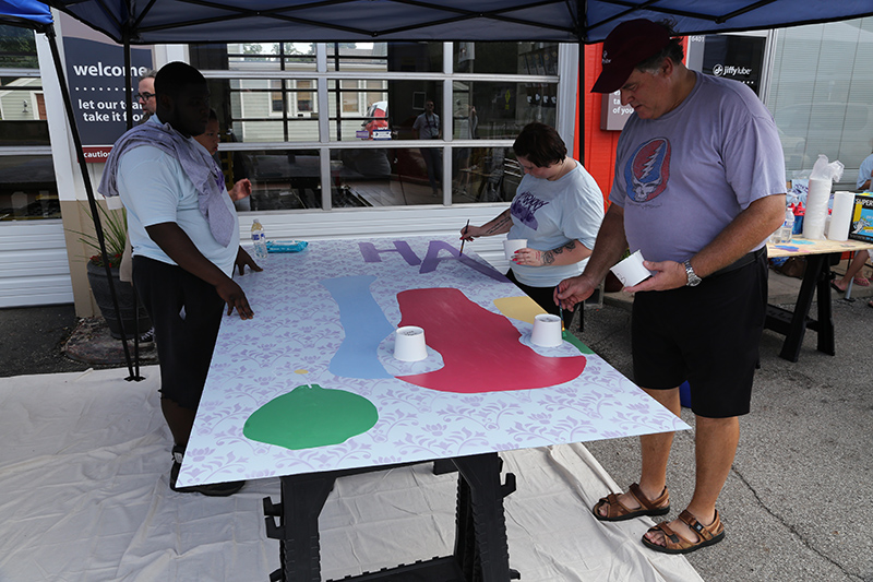
<instances>
[{"instance_id":1,"label":"grey asphalt pavement surrounding the white drop cloth","mask_svg":"<svg viewBox=\"0 0 873 582\"><path fill-rule=\"evenodd\" d=\"M770 271L770 302L790 307L799 285ZM726 538L689 557L704 580L873 582L873 286L856 286L853 296L846 301L834 293L836 356L816 352L810 331L792 364L778 355L782 337L764 332L752 413L741 419L740 447L718 503ZM581 337L633 378L630 300L607 294L601 309L586 311ZM107 366L64 355L83 323L72 306L0 309L0 377ZM693 427L690 411L682 417ZM691 498L693 439L693 431L683 431L674 440L669 519ZM636 439L586 447L622 487L638 479Z\"/></svg>"}]
</instances>

